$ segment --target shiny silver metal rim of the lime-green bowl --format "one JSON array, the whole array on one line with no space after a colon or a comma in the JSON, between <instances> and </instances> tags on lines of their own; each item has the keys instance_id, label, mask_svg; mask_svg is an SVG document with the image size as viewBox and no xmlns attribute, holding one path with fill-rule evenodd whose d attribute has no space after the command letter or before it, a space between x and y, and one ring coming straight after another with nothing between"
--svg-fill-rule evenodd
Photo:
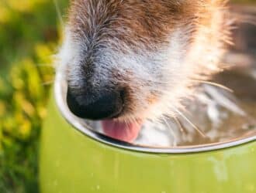
<instances>
[{"instance_id":1,"label":"shiny silver metal rim of the lime-green bowl","mask_svg":"<svg viewBox=\"0 0 256 193\"><path fill-rule=\"evenodd\" d=\"M54 82L54 99L57 104L58 110L61 111L62 117L67 120L68 124L71 124L74 129L81 132L81 134L85 134L90 137L94 141L98 141L102 144L110 145L112 147L119 147L123 150L129 151L139 151L144 153L154 153L154 154L188 154L188 153L199 153L206 151L216 151L228 147L236 147L238 145L247 144L249 142L256 141L256 135L247 135L244 137L237 137L230 141L223 141L219 143L211 143L211 144L200 144L193 146L180 146L180 147L154 147L154 146L146 146L139 144L129 144L123 141L118 141L112 139L111 137L107 137L103 134L99 134L93 130L90 130L85 127L85 125L81 124L82 120L78 117L75 117L73 113L68 109L67 103L65 103L63 97L63 89L67 90L67 84L64 81L64 76L61 73L56 73L55 82Z\"/></svg>"}]
</instances>

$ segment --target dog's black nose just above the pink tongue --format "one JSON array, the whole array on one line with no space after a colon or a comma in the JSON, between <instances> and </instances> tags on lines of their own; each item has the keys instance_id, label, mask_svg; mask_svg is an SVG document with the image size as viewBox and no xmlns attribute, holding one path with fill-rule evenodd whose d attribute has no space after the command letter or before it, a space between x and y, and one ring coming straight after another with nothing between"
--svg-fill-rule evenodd
<instances>
[{"instance_id":1,"label":"dog's black nose just above the pink tongue","mask_svg":"<svg viewBox=\"0 0 256 193\"><path fill-rule=\"evenodd\" d=\"M78 117L90 120L102 120L117 117L123 110L123 92L112 91L102 93L98 97L85 94L85 97L91 97L93 100L85 98L82 101L78 101L78 97L71 90L67 91L67 106ZM83 96L79 97L79 100L82 98ZM85 103L85 101L91 102Z\"/></svg>"}]
</instances>

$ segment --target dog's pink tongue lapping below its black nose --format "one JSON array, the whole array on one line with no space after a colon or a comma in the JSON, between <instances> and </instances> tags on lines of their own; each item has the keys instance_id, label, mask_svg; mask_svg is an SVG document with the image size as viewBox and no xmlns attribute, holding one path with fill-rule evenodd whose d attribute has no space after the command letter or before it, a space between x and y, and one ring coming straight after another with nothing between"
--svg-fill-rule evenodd
<instances>
[{"instance_id":1,"label":"dog's pink tongue lapping below its black nose","mask_svg":"<svg viewBox=\"0 0 256 193\"><path fill-rule=\"evenodd\" d=\"M115 138L119 141L133 142L140 132L140 123L129 123L102 120L103 131L109 137Z\"/></svg>"}]
</instances>

